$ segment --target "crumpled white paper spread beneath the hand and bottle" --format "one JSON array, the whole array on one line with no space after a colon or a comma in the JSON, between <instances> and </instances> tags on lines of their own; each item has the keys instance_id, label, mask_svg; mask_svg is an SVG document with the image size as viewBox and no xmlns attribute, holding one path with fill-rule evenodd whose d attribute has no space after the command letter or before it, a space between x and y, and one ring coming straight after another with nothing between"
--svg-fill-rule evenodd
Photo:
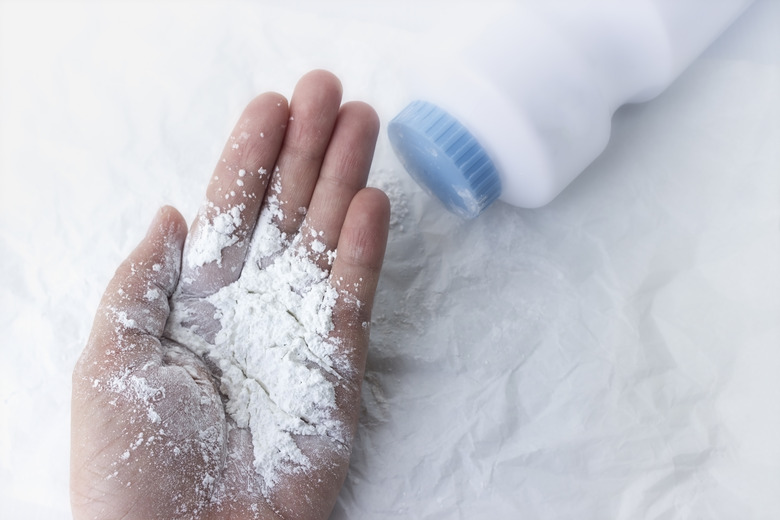
<instances>
[{"instance_id":1,"label":"crumpled white paper spread beneath the hand and bottle","mask_svg":"<svg viewBox=\"0 0 780 520\"><path fill-rule=\"evenodd\" d=\"M778 7L622 109L541 209L461 221L382 134L393 223L333 518L780 516ZM447 2L0 3L0 517L69 517L100 294L158 206L195 215L243 105L325 67L386 124L398 49L445 8L468 29Z\"/></svg>"}]
</instances>

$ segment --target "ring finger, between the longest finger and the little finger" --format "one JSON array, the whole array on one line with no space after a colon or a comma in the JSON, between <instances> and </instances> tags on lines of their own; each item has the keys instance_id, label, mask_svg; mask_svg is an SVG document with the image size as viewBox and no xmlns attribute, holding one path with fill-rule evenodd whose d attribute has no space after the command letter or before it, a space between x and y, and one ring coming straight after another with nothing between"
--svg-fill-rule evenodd
<instances>
[{"instance_id":1,"label":"ring finger, between the longest finger and the little finger","mask_svg":"<svg viewBox=\"0 0 780 520\"><path fill-rule=\"evenodd\" d=\"M366 185L378 134L373 108L358 102L341 108L301 233L312 260L323 269L353 197Z\"/></svg>"}]
</instances>

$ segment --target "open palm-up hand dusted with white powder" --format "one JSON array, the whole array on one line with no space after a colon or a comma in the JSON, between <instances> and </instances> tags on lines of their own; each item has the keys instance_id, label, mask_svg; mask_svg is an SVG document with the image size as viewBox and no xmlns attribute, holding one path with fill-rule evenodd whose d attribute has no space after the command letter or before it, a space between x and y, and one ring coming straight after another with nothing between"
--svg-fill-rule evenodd
<instances>
[{"instance_id":1,"label":"open palm-up hand dusted with white powder","mask_svg":"<svg viewBox=\"0 0 780 520\"><path fill-rule=\"evenodd\" d=\"M362 103L340 104L340 83L323 71L299 81L289 107L278 94L257 97L225 146L189 235L165 207L117 270L73 374L76 518L329 515L349 465L389 221L387 197L365 188L377 116ZM276 233L275 249L250 246L253 233L255 242ZM252 359L262 350L254 341L274 324L305 320L247 307L246 288L232 304L223 297L242 287L242 273L271 273L284 258L317 266L327 284L317 286L325 295L317 308L332 306L315 337L328 354L318 358L308 343L287 353L315 381L311 388L332 393L330 405L315 402L298 416L290 409L306 403L280 404L285 387L254 375L263 367ZM232 308L258 312L257 324L269 328L227 337ZM237 360L240 352L247 360ZM261 401L271 408L252 408ZM265 423L253 429L247 419L258 414L281 419L258 431ZM269 458L258 459L263 453Z\"/></svg>"}]
</instances>

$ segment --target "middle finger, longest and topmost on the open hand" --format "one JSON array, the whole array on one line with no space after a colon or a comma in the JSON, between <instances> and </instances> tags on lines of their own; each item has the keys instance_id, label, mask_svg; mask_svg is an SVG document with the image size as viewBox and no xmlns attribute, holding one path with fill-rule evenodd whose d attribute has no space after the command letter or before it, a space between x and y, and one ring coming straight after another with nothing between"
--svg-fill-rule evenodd
<instances>
[{"instance_id":1,"label":"middle finger, longest and topmost on the open hand","mask_svg":"<svg viewBox=\"0 0 780 520\"><path fill-rule=\"evenodd\" d=\"M303 76L290 100L290 120L278 171L281 217L275 224L293 236L311 201L341 105L341 82L331 73L316 70Z\"/></svg>"}]
</instances>

